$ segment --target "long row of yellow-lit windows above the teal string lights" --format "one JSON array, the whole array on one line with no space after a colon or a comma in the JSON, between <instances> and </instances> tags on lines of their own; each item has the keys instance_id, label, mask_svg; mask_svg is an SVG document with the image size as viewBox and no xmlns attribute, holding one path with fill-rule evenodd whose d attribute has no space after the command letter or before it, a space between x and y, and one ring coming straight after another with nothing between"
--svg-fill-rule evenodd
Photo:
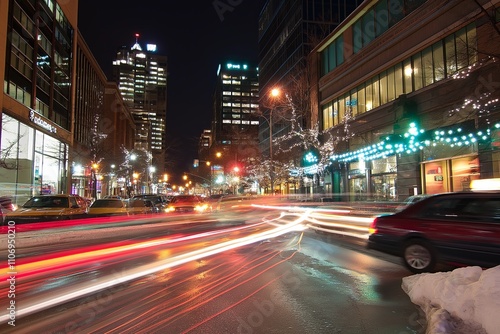
<instances>
[{"instance_id":1,"label":"long row of yellow-lit windows above the teal string lights","mask_svg":"<svg viewBox=\"0 0 500 334\"><path fill-rule=\"evenodd\" d=\"M344 123L395 100L401 94L409 94L450 77L458 70L475 63L476 43L476 30L470 24L372 77L323 105L323 129Z\"/></svg>"}]
</instances>

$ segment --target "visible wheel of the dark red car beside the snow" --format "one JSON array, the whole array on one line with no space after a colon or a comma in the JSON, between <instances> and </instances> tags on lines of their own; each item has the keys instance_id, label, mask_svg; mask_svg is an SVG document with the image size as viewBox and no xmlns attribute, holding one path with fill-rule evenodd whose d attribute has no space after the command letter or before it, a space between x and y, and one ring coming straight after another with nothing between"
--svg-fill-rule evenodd
<instances>
[{"instance_id":1,"label":"visible wheel of the dark red car beside the snow","mask_svg":"<svg viewBox=\"0 0 500 334\"><path fill-rule=\"evenodd\" d=\"M436 252L425 240L408 240L403 247L403 262L412 273L431 272L436 265Z\"/></svg>"}]
</instances>

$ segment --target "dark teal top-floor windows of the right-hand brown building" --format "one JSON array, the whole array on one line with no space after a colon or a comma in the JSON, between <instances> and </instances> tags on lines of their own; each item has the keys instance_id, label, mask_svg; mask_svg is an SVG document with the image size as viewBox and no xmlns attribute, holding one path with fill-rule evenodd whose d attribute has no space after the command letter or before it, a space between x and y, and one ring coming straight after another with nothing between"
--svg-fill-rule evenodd
<instances>
[{"instance_id":1,"label":"dark teal top-floor windows of the right-hand brown building","mask_svg":"<svg viewBox=\"0 0 500 334\"><path fill-rule=\"evenodd\" d=\"M381 0L352 26L353 52L357 53L387 29L401 21L426 0ZM321 53L321 75L344 62L344 40L339 36Z\"/></svg>"}]
</instances>

